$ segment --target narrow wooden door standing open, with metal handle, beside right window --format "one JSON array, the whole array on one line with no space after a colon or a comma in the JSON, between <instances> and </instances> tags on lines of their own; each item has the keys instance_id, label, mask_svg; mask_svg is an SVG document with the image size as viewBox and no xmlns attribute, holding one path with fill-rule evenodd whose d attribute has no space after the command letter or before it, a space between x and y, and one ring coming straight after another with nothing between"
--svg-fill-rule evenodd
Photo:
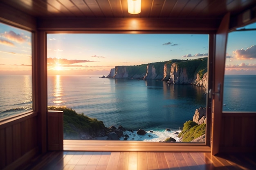
<instances>
[{"instance_id":1,"label":"narrow wooden door standing open, with metal handle, beside right window","mask_svg":"<svg viewBox=\"0 0 256 170\"><path fill-rule=\"evenodd\" d=\"M213 123L212 123L212 144L211 152L216 155L219 152L222 104L223 104L223 82L225 71L225 56L227 46L227 33L229 29L230 13L227 13L220 23L216 34L215 57L214 57L214 77L213 77L213 93L219 93L213 97ZM218 91L220 88L220 91Z\"/></svg>"}]
</instances>

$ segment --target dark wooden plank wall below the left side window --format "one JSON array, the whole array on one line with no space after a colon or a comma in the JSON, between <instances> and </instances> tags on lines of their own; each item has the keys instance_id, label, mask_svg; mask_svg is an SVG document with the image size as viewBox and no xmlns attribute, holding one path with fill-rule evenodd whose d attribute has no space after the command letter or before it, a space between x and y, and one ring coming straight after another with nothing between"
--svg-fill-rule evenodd
<instances>
[{"instance_id":1,"label":"dark wooden plank wall below the left side window","mask_svg":"<svg viewBox=\"0 0 256 170\"><path fill-rule=\"evenodd\" d=\"M0 169L15 169L38 154L36 114L0 123Z\"/></svg>"}]
</instances>

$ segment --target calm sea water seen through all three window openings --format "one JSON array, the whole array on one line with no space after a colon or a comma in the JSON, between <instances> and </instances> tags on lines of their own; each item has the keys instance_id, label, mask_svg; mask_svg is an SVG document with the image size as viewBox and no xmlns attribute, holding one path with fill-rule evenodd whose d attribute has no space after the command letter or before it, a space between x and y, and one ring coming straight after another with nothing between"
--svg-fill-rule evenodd
<instances>
[{"instance_id":1,"label":"calm sea water seen through all three window openings","mask_svg":"<svg viewBox=\"0 0 256 170\"><path fill-rule=\"evenodd\" d=\"M207 93L193 85L157 80L99 78L102 75L49 75L48 106L66 106L103 121L106 127L150 130L150 137L176 138L195 110L206 107ZM32 109L31 76L0 75L0 119ZM225 75L223 111L256 111L256 75ZM171 131L166 131L166 128Z\"/></svg>"}]
</instances>

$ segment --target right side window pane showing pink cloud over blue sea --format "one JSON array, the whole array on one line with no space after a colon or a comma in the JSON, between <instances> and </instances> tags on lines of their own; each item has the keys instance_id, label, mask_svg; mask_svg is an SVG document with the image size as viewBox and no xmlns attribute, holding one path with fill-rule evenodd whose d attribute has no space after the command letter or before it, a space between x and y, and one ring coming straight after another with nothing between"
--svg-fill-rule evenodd
<instances>
[{"instance_id":1,"label":"right side window pane showing pink cloud over blue sea","mask_svg":"<svg viewBox=\"0 0 256 170\"><path fill-rule=\"evenodd\" d=\"M256 111L255 29L256 23L228 35L223 111Z\"/></svg>"}]
</instances>

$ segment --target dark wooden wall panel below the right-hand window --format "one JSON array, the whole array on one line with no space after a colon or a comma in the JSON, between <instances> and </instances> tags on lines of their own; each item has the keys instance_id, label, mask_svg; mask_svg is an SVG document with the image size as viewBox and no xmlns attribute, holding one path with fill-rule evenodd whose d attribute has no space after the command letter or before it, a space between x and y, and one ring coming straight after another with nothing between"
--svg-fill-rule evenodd
<instances>
[{"instance_id":1,"label":"dark wooden wall panel below the right-hand window","mask_svg":"<svg viewBox=\"0 0 256 170\"><path fill-rule=\"evenodd\" d=\"M220 152L256 151L256 113L222 113Z\"/></svg>"}]
</instances>

